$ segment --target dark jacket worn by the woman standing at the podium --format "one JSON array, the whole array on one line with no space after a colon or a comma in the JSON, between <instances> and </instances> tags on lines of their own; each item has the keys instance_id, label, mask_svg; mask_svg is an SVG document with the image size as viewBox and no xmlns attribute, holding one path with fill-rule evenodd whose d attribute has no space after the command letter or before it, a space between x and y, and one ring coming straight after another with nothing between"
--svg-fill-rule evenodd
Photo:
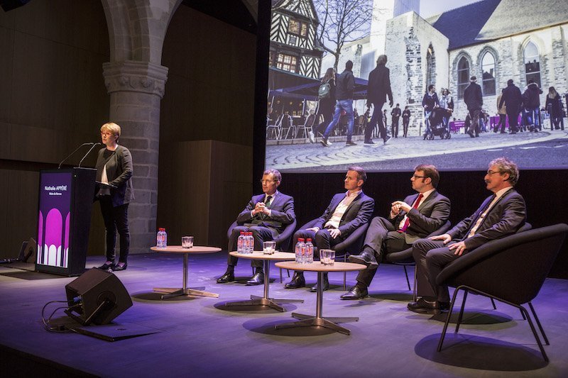
<instances>
[{"instance_id":1,"label":"dark jacket worn by the woman standing at the podium","mask_svg":"<svg viewBox=\"0 0 568 378\"><path fill-rule=\"evenodd\" d=\"M102 169L106 164L109 184L117 187L116 189L110 189L112 206L129 204L134 199L131 179L133 172L132 155L128 148L118 145L116 150L114 150L114 154L108 160L105 160L104 150L107 150L107 148L99 150L97 164L94 165L97 168L97 181L101 181ZM99 187L97 185L95 193L98 191Z\"/></svg>"}]
</instances>

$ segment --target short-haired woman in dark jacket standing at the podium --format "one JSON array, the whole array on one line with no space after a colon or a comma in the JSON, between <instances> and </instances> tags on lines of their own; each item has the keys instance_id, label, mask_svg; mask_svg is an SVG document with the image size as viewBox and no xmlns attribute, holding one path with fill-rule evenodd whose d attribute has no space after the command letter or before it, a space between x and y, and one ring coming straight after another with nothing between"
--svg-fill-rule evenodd
<instances>
[{"instance_id":1,"label":"short-haired woman in dark jacket standing at the podium","mask_svg":"<svg viewBox=\"0 0 568 378\"><path fill-rule=\"evenodd\" d=\"M130 248L129 203L132 190L132 155L119 145L120 126L105 123L101 139L105 145L97 157L97 199L101 204L104 228L107 230L107 262L99 269L124 270L128 266ZM115 262L116 231L120 235L119 262Z\"/></svg>"}]
</instances>

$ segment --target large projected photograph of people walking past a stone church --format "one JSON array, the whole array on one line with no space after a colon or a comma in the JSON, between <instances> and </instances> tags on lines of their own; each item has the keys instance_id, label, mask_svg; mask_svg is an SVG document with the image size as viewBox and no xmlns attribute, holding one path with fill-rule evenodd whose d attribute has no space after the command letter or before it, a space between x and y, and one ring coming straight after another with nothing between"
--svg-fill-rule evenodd
<instances>
[{"instance_id":1,"label":"large projected photograph of people walking past a stone church","mask_svg":"<svg viewBox=\"0 0 568 378\"><path fill-rule=\"evenodd\" d=\"M440 3L273 0L266 168L568 168L568 2Z\"/></svg>"}]
</instances>

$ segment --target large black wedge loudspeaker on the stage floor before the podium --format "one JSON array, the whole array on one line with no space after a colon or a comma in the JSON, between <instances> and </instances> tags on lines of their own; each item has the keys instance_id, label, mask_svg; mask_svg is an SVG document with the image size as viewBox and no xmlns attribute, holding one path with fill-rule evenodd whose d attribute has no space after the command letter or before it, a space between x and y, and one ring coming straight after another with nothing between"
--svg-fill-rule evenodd
<instances>
[{"instance_id":1,"label":"large black wedge loudspeaker on the stage floor before the podium","mask_svg":"<svg viewBox=\"0 0 568 378\"><path fill-rule=\"evenodd\" d=\"M107 324L132 306L129 292L118 277L102 269L89 269L65 285L70 307L65 313L84 326Z\"/></svg>"}]
</instances>

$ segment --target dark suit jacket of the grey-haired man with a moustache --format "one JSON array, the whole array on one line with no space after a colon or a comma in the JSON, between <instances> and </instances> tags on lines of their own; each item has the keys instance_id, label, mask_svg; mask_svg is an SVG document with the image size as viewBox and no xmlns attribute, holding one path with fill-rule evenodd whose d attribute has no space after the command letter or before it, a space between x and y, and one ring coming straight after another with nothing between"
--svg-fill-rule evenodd
<instances>
[{"instance_id":1,"label":"dark suit jacket of the grey-haired man with a moustache","mask_svg":"<svg viewBox=\"0 0 568 378\"><path fill-rule=\"evenodd\" d=\"M479 209L448 231L453 240L461 240L466 237L479 214L491 203L491 199L493 199L493 196L488 196L484 203L479 206ZM523 227L526 218L525 199L515 189L511 188L489 210L476 233L471 238L464 240L466 249L474 250L489 240L516 233L519 228Z\"/></svg>"}]
</instances>

